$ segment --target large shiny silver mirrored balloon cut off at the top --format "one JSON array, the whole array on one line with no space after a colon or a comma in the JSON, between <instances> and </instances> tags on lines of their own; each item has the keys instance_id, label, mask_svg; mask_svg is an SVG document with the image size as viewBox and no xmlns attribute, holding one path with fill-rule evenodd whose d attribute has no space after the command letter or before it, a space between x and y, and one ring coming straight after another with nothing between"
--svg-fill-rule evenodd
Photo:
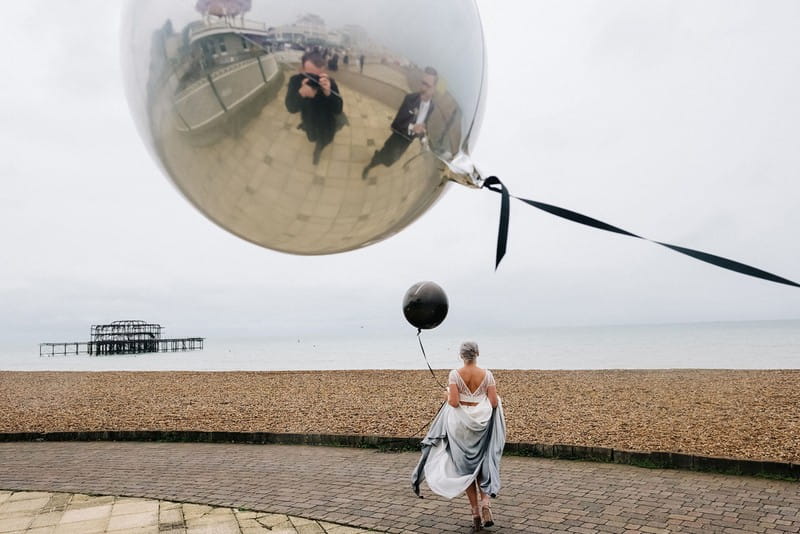
<instances>
[{"instance_id":1,"label":"large shiny silver mirrored balloon cut off at the top","mask_svg":"<svg viewBox=\"0 0 800 534\"><path fill-rule=\"evenodd\" d=\"M132 0L122 30L146 144L248 241L354 249L480 182L474 0Z\"/></svg>"}]
</instances>

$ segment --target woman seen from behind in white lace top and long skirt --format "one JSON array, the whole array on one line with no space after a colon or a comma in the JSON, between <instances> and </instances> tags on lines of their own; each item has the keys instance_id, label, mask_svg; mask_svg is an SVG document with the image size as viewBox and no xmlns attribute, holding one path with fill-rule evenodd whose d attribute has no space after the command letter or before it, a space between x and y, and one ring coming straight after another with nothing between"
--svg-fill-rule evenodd
<instances>
[{"instance_id":1,"label":"woman seen from behind in white lace top and long skirt","mask_svg":"<svg viewBox=\"0 0 800 534\"><path fill-rule=\"evenodd\" d=\"M466 492L476 532L494 525L489 496L500 490L506 423L494 376L478 367L477 343L462 343L460 354L464 366L450 371L447 403L422 440L422 458L411 484L417 495L423 480L448 499Z\"/></svg>"}]
</instances>

